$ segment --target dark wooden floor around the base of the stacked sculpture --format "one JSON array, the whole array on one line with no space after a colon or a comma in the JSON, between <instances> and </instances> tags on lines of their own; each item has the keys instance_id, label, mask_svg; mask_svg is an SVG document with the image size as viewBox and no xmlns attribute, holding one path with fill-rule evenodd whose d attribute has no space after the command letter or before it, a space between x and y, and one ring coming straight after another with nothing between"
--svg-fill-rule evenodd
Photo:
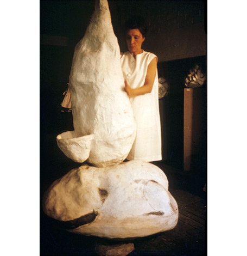
<instances>
[{"instance_id":1,"label":"dark wooden floor around the base of the stacked sculpture","mask_svg":"<svg viewBox=\"0 0 247 256\"><path fill-rule=\"evenodd\" d=\"M179 206L179 220L172 230L136 239L135 251L129 255L206 255L205 198L179 189L170 189ZM41 218L40 255L96 255L94 248L104 243L97 237L87 237L57 230ZM125 241L125 243L128 241ZM116 242L114 242L116 243ZM117 242L119 243L119 242Z\"/></svg>"}]
</instances>

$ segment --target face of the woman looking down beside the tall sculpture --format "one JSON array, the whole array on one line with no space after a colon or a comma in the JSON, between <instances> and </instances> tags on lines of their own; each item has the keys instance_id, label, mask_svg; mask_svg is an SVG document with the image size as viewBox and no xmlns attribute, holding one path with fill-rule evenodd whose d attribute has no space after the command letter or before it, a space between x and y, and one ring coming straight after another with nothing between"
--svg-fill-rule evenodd
<instances>
[{"instance_id":1,"label":"face of the woman looking down beside the tall sculpture","mask_svg":"<svg viewBox=\"0 0 247 256\"><path fill-rule=\"evenodd\" d=\"M130 53L136 55L142 53L142 43L145 38L142 36L142 33L139 29L129 29L126 32L126 43Z\"/></svg>"}]
</instances>

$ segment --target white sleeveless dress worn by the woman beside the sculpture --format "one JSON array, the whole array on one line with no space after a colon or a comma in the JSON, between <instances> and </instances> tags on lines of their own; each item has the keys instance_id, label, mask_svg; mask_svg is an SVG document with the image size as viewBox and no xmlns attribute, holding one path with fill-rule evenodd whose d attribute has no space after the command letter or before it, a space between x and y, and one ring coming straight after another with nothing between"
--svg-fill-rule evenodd
<instances>
[{"instance_id":1,"label":"white sleeveless dress worn by the woman beside the sculpture","mask_svg":"<svg viewBox=\"0 0 247 256\"><path fill-rule=\"evenodd\" d=\"M123 76L131 88L144 85L148 65L155 57L155 54L145 51L137 54L136 58L130 52L121 53ZM156 71L151 93L130 97L137 124L137 133L127 157L128 160L147 162L162 160L158 86Z\"/></svg>"}]
</instances>

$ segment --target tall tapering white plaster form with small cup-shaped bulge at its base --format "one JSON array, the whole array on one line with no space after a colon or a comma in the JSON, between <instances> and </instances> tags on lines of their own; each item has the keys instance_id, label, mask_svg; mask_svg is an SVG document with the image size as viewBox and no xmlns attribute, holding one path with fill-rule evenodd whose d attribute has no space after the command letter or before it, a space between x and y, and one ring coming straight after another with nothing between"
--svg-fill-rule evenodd
<instances>
[{"instance_id":1,"label":"tall tapering white plaster form with small cup-shaped bulge at its base","mask_svg":"<svg viewBox=\"0 0 247 256\"><path fill-rule=\"evenodd\" d=\"M69 75L74 131L61 133L56 139L73 161L87 160L105 167L122 162L129 154L136 124L124 91L108 3L100 0L95 6L84 38L75 46Z\"/></svg>"}]
</instances>

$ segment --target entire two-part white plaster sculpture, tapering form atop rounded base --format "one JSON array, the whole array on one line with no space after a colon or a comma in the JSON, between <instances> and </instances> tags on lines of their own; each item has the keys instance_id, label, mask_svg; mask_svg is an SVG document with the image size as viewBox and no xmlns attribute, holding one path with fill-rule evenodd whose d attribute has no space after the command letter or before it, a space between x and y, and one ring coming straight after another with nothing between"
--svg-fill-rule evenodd
<instances>
[{"instance_id":1,"label":"entire two-part white plaster sculpture, tapering form atop rounded base","mask_svg":"<svg viewBox=\"0 0 247 256\"><path fill-rule=\"evenodd\" d=\"M123 162L135 120L123 90L119 46L106 0L75 47L69 76L74 131L59 148L83 164L53 182L43 210L73 233L106 238L147 236L175 227L178 205L163 171L144 161Z\"/></svg>"}]
</instances>

